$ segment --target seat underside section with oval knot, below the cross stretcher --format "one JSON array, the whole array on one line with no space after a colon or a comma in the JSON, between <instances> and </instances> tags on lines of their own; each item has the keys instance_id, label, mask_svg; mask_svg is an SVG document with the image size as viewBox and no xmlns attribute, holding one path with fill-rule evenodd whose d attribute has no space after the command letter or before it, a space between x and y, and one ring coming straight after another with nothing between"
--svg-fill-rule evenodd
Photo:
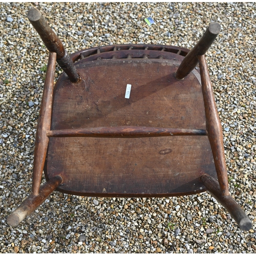
<instances>
[{"instance_id":1,"label":"seat underside section with oval knot, below the cross stretcher","mask_svg":"<svg viewBox=\"0 0 256 256\"><path fill-rule=\"evenodd\" d=\"M45 175L57 190L99 197L169 197L205 191L216 177L207 136L50 138Z\"/></svg>"}]
</instances>

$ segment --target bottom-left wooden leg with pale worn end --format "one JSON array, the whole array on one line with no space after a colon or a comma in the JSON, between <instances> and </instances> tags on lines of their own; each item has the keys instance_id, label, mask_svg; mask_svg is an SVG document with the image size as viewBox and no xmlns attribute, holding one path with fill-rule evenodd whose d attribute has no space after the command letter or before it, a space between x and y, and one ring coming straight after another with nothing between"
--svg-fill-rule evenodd
<instances>
[{"instance_id":1,"label":"bottom-left wooden leg with pale worn end","mask_svg":"<svg viewBox=\"0 0 256 256\"><path fill-rule=\"evenodd\" d=\"M42 204L48 196L61 184L62 178L55 176L40 187L37 196L30 195L26 198L22 204L16 208L7 219L7 223L10 226L16 227L22 222L28 215L31 214L40 204Z\"/></svg>"}]
</instances>

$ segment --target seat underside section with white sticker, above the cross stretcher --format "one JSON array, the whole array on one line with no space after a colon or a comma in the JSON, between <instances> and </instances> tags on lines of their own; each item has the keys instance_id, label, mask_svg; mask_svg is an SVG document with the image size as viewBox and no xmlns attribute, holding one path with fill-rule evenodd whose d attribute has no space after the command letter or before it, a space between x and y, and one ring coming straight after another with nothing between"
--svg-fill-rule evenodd
<instances>
[{"instance_id":1,"label":"seat underside section with white sticker, above the cross stretcher","mask_svg":"<svg viewBox=\"0 0 256 256\"><path fill-rule=\"evenodd\" d=\"M55 85L51 130L124 125L204 130L200 75L195 71L186 82L177 80L179 63L165 59L78 63L79 83L61 75ZM128 83L131 95L125 99Z\"/></svg>"}]
</instances>

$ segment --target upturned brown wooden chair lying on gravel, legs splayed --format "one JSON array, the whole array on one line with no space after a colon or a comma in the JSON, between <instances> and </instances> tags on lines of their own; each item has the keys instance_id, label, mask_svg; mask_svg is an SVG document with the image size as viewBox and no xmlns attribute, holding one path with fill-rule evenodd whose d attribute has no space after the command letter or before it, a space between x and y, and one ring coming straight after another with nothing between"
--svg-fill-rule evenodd
<instances>
[{"instance_id":1,"label":"upturned brown wooden chair lying on gravel, legs splayed","mask_svg":"<svg viewBox=\"0 0 256 256\"><path fill-rule=\"evenodd\" d=\"M220 32L218 23L191 51L113 45L69 56L37 9L28 18L50 56L32 192L8 217L9 225L17 226L55 189L95 197L208 190L241 229L251 228L229 195L222 126L204 56ZM55 61L65 73L54 86ZM43 170L47 182L40 187Z\"/></svg>"}]
</instances>

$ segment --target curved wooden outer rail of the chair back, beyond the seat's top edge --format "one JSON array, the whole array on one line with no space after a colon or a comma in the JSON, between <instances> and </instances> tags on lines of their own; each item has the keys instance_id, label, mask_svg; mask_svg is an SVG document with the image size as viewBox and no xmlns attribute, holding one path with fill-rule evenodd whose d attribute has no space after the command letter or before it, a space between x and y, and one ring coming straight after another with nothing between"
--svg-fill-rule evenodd
<instances>
[{"instance_id":1,"label":"curved wooden outer rail of the chair back, beyond the seat's top edge","mask_svg":"<svg viewBox=\"0 0 256 256\"><path fill-rule=\"evenodd\" d=\"M98 49L100 49L101 53L105 53L105 52L111 52L111 51L119 52L119 51L123 51L123 50L129 50L130 47L132 47L133 51L137 51L137 50L151 50L151 51L159 51L160 52L160 51L163 51L163 49L164 49L166 52L171 52L171 53L178 53L179 52L179 54L182 55L182 56L186 56L186 54L189 52L188 49L183 48L183 47L177 47L177 46L129 44L129 45L101 46L101 47L93 47L93 48L89 48L89 49L83 49L81 51L72 53L70 55L70 57L75 62L75 61L80 59L80 55L82 55L84 58L86 58L86 57L89 57L91 55L97 54L98 53ZM159 54L162 54L162 53L163 52L161 52Z\"/></svg>"}]
</instances>

